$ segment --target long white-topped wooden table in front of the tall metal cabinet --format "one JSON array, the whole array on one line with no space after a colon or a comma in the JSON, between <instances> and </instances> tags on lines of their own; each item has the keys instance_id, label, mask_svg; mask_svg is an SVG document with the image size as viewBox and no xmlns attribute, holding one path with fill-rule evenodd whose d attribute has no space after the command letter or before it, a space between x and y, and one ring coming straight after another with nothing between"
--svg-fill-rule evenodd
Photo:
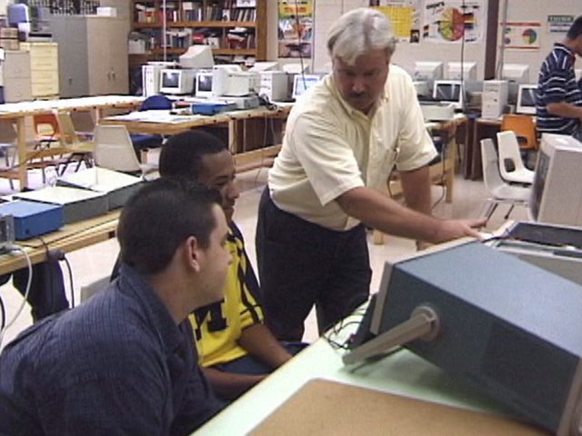
<instances>
[{"instance_id":1,"label":"long white-topped wooden table in front of the tall metal cabinet","mask_svg":"<svg viewBox=\"0 0 582 436\"><path fill-rule=\"evenodd\" d=\"M22 164L30 157L26 152L26 116L46 114L55 110L95 111L95 120L99 120L103 116L105 110L135 109L143 101L143 97L130 95L102 95L82 98L65 98L61 100L35 100L34 102L0 104L0 119L15 121L16 124L19 163L15 170L0 172L0 176L17 179L21 191L28 187L28 175L26 173L27 167Z\"/></svg>"}]
</instances>

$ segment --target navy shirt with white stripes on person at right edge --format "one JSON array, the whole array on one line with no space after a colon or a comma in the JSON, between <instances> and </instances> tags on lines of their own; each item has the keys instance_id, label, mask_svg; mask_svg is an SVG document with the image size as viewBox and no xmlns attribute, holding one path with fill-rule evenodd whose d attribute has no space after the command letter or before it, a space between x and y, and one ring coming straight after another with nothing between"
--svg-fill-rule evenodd
<instances>
[{"instance_id":1,"label":"navy shirt with white stripes on person at right edge","mask_svg":"<svg viewBox=\"0 0 582 436\"><path fill-rule=\"evenodd\" d=\"M574 72L575 54L566 45L555 44L544 60L537 80L537 130L552 134L575 134L578 118L564 118L547 112L547 104L567 102L582 106L582 91Z\"/></svg>"}]
</instances>

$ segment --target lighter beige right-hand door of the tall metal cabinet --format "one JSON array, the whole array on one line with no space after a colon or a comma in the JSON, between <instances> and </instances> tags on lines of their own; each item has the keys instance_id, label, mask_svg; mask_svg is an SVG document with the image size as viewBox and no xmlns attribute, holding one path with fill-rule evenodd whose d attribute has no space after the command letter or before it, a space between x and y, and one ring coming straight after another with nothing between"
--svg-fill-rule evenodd
<instances>
[{"instance_id":1,"label":"lighter beige right-hand door of the tall metal cabinet","mask_svg":"<svg viewBox=\"0 0 582 436\"><path fill-rule=\"evenodd\" d=\"M127 94L127 25L117 18L87 17L91 95Z\"/></svg>"}]
</instances>

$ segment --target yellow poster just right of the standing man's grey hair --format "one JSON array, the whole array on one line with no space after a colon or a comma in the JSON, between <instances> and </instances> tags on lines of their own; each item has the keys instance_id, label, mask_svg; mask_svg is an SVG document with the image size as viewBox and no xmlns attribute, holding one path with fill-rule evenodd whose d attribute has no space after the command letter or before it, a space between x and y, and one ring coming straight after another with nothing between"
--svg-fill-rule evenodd
<instances>
[{"instance_id":1,"label":"yellow poster just right of the standing man's grey hair","mask_svg":"<svg viewBox=\"0 0 582 436\"><path fill-rule=\"evenodd\" d=\"M420 39L420 0L375 2L370 6L390 18L398 41L418 43Z\"/></svg>"}]
</instances>

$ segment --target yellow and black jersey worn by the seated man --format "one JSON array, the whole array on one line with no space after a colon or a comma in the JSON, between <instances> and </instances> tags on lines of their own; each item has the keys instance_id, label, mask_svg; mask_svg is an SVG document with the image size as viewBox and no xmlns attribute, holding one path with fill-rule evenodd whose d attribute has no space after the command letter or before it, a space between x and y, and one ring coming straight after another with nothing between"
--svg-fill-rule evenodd
<instances>
[{"instance_id":1,"label":"yellow and black jersey worn by the seated man","mask_svg":"<svg viewBox=\"0 0 582 436\"><path fill-rule=\"evenodd\" d=\"M233 256L226 276L225 299L190 314L199 362L208 367L246 355L237 341L246 327L263 322L257 301L259 292L253 267L245 251L243 236L233 223L226 246Z\"/></svg>"}]
</instances>

